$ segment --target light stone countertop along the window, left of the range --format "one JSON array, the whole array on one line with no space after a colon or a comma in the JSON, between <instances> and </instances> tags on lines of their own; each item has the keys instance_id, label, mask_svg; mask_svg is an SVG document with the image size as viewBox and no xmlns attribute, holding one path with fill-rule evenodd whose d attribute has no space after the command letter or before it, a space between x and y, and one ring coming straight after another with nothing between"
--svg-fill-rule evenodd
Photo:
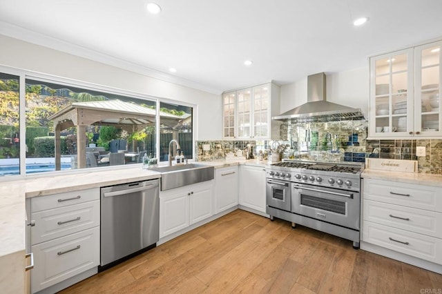
<instances>
[{"instance_id":1,"label":"light stone countertop along the window, left of the range","mask_svg":"<svg viewBox=\"0 0 442 294\"><path fill-rule=\"evenodd\" d=\"M267 161L198 161L215 168L246 164L266 166ZM0 257L25 250L25 199L64 193L72 190L111 186L148 179L159 179L161 174L144 170L140 164L112 170L81 170L79 173L27 177L0 182ZM1 262L0 262L1 266Z\"/></svg>"}]
</instances>

